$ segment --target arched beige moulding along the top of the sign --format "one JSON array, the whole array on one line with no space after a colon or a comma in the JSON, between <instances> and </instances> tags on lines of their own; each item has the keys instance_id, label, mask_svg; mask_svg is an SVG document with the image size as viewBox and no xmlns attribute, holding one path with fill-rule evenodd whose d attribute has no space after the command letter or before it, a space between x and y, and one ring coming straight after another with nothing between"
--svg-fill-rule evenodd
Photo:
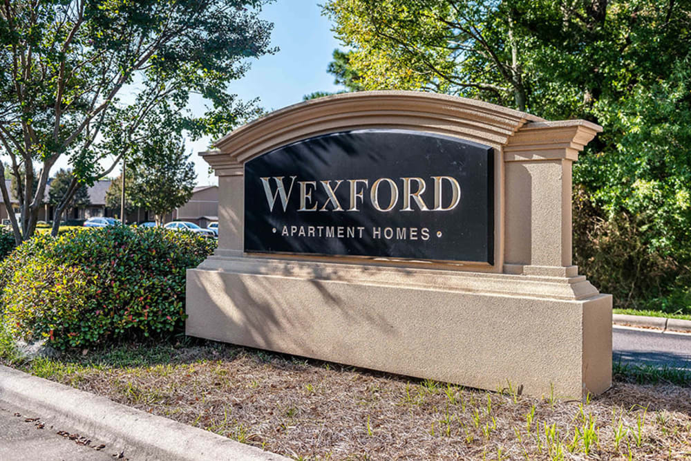
<instances>
[{"instance_id":1,"label":"arched beige moulding along the top of the sign","mask_svg":"<svg viewBox=\"0 0 691 461\"><path fill-rule=\"evenodd\" d=\"M525 124L545 122L528 113L463 97L416 91L363 91L288 106L241 126L202 153L219 176L286 144L356 129L404 129L462 138L500 148Z\"/></svg>"}]
</instances>

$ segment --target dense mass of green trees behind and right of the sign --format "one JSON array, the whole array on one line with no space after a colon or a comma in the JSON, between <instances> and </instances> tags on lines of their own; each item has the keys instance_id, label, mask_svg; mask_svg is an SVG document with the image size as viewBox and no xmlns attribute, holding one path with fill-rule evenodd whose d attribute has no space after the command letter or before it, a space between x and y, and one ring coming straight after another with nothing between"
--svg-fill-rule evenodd
<instances>
[{"instance_id":1,"label":"dense mass of green trees behind and right of the sign","mask_svg":"<svg viewBox=\"0 0 691 461\"><path fill-rule=\"evenodd\" d=\"M436 91L602 125L574 165L589 203L575 215L587 221L576 223L576 261L619 300L679 289L691 306L690 3L329 0L324 11L365 89ZM614 273L633 274L626 288Z\"/></svg>"}]
</instances>

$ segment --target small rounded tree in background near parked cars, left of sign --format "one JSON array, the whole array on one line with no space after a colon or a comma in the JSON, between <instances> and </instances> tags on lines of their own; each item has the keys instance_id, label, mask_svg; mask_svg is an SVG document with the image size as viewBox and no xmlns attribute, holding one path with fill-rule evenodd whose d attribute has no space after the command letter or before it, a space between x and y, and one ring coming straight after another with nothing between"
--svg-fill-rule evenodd
<instances>
[{"instance_id":1,"label":"small rounded tree in background near parked cars, left of sign","mask_svg":"<svg viewBox=\"0 0 691 461\"><path fill-rule=\"evenodd\" d=\"M192 196L197 175L190 156L182 138L160 136L144 142L133 161L132 203L153 211L157 225Z\"/></svg>"}]
</instances>

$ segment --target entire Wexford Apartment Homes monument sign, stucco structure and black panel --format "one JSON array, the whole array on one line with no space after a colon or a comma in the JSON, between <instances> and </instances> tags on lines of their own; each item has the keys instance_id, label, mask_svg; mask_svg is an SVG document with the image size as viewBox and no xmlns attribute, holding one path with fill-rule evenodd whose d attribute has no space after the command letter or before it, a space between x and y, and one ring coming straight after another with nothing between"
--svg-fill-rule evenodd
<instances>
[{"instance_id":1,"label":"entire Wexford Apartment Homes monument sign, stucco structure and black panel","mask_svg":"<svg viewBox=\"0 0 691 461\"><path fill-rule=\"evenodd\" d=\"M612 378L612 298L571 264L571 163L600 127L379 91L312 100L202 153L219 245L187 334L478 388Z\"/></svg>"}]
</instances>

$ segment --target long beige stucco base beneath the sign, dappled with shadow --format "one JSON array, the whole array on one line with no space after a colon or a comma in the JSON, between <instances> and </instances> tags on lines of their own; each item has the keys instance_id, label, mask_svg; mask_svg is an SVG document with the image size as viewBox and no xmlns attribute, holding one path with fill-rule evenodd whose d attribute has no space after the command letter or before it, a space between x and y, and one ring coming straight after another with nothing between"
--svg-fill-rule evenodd
<instances>
[{"instance_id":1,"label":"long beige stucco base beneath the sign, dappled with shadow","mask_svg":"<svg viewBox=\"0 0 691 461\"><path fill-rule=\"evenodd\" d=\"M612 297L583 276L212 256L187 297L195 337L537 396L611 385Z\"/></svg>"}]
</instances>

